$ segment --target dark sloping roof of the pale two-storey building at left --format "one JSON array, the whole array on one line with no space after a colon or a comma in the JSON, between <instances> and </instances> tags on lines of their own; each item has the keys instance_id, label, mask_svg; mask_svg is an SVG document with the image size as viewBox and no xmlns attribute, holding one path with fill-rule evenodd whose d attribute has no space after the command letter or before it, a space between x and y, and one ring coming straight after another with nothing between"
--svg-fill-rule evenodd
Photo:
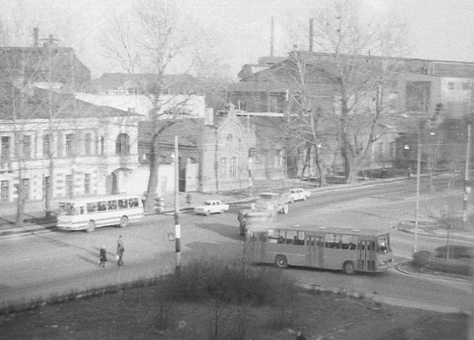
<instances>
[{"instance_id":1,"label":"dark sloping roof of the pale two-storey building at left","mask_svg":"<svg viewBox=\"0 0 474 340\"><path fill-rule=\"evenodd\" d=\"M0 97L5 98L0 101L0 119L48 119L50 118L49 98L51 96L53 103L54 118L87 118L87 117L114 117L114 116L135 116L138 114L122 111L108 106L94 105L82 100L77 100L73 95L49 92L39 88L30 88L26 91L13 89L8 91L12 96L5 96L1 93ZM13 110L15 104L15 111Z\"/></svg>"}]
</instances>

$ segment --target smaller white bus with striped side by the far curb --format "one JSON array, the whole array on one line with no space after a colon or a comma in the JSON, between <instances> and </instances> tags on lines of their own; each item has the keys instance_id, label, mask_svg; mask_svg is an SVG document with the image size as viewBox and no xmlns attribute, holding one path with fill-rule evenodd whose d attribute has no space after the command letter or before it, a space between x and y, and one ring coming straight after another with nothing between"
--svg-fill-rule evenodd
<instances>
[{"instance_id":1,"label":"smaller white bus with striped side by the far curb","mask_svg":"<svg viewBox=\"0 0 474 340\"><path fill-rule=\"evenodd\" d=\"M143 218L143 203L139 196L109 195L64 199L59 202L57 228L85 230L104 226L126 227Z\"/></svg>"}]
</instances>

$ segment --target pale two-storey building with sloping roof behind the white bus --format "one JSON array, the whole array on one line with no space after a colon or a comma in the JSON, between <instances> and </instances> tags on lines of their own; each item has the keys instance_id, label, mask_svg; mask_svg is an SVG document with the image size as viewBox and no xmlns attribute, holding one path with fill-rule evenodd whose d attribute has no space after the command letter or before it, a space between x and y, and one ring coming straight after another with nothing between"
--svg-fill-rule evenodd
<instances>
[{"instance_id":1,"label":"pale two-storey building with sloping roof behind the white bus","mask_svg":"<svg viewBox=\"0 0 474 340\"><path fill-rule=\"evenodd\" d=\"M0 204L18 198L20 181L26 200L45 199L47 185L52 198L128 191L139 166L137 115L55 94L61 114L50 118L48 91L26 97L15 119L0 108Z\"/></svg>"}]
</instances>

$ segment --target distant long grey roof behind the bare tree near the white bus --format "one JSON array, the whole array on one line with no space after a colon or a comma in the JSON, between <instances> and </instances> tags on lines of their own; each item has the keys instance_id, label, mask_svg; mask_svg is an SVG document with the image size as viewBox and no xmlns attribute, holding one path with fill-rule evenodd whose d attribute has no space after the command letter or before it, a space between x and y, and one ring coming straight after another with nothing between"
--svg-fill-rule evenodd
<instances>
[{"instance_id":1,"label":"distant long grey roof behind the bare tree near the white bus","mask_svg":"<svg viewBox=\"0 0 474 340\"><path fill-rule=\"evenodd\" d=\"M91 81L92 91L104 93L117 89L139 88L153 91L158 82L154 73L104 73ZM161 80L161 92L192 93L196 91L197 79L190 74L164 74Z\"/></svg>"}]
</instances>

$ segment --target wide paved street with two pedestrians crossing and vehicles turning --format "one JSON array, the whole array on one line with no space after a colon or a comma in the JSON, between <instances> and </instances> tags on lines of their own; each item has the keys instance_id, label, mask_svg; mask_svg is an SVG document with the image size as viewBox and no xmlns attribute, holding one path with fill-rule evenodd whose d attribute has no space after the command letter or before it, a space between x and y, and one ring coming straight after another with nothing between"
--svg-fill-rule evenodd
<instances>
[{"instance_id":1,"label":"wide paved street with two pedestrians crossing and vehicles turning","mask_svg":"<svg viewBox=\"0 0 474 340\"><path fill-rule=\"evenodd\" d=\"M400 182L314 194L306 202L291 204L289 214L279 215L276 224L282 227L310 223L390 229L399 221L414 216L412 186L413 182ZM430 204L432 196L423 185L420 213L426 214ZM182 215L183 261L200 256L238 258L243 239L239 236L235 211L233 208L228 214L210 217ZM0 240L2 303L28 301L57 292L171 273L175 268L175 243L168 241L167 236L173 232L173 217L161 215L147 217L139 225L124 229L99 228L92 234L52 232ZM395 256L409 259L413 235L396 230L391 232ZM119 235L122 235L126 249L125 266L121 268L114 263ZM442 239L418 238L420 249L432 250L444 243ZM98 266L101 245L106 246L111 261L106 268ZM376 293L394 300L416 301L420 306L470 308L471 285L464 282L408 276L396 270L377 275L347 276L331 271L290 268L285 274L297 281Z\"/></svg>"}]
</instances>

